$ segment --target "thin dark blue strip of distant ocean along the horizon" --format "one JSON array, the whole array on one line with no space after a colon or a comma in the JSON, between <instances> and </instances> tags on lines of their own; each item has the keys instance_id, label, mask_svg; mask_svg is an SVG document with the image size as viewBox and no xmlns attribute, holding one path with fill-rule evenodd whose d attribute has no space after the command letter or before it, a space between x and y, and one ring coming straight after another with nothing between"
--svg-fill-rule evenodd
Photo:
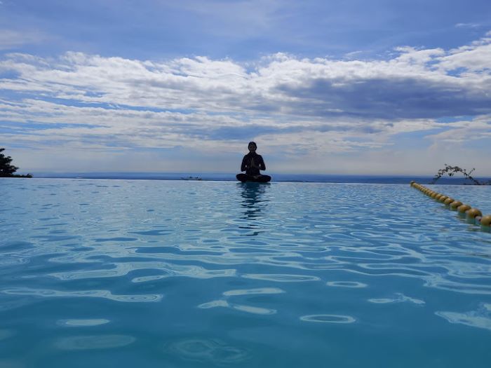
<instances>
[{"instance_id":1,"label":"thin dark blue strip of distant ocean along the horizon","mask_svg":"<svg viewBox=\"0 0 491 368\"><path fill-rule=\"evenodd\" d=\"M429 184L433 177L401 175L314 175L314 174L274 174L272 182L311 182L311 183L371 183L371 184L409 184L415 180L420 184ZM79 179L147 179L182 180L199 178L206 181L236 181L235 174L199 173L199 172L34 172L34 177L43 178L79 178ZM476 178L489 181L491 178ZM442 177L438 184L472 184L464 177Z\"/></svg>"}]
</instances>

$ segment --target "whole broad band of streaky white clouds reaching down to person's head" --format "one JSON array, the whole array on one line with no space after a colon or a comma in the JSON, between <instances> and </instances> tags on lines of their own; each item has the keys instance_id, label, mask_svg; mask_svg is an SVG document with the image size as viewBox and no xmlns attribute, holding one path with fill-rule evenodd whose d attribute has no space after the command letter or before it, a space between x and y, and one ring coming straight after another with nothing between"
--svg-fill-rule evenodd
<instances>
[{"instance_id":1,"label":"whole broad band of streaky white clouds reaching down to person's head","mask_svg":"<svg viewBox=\"0 0 491 368\"><path fill-rule=\"evenodd\" d=\"M289 158L390 149L410 134L433 145L490 137L489 34L452 50L394 52L384 60L276 53L255 62L9 53L0 60L0 132L33 149L187 147L202 155L256 139ZM443 123L456 116L467 117Z\"/></svg>"}]
</instances>

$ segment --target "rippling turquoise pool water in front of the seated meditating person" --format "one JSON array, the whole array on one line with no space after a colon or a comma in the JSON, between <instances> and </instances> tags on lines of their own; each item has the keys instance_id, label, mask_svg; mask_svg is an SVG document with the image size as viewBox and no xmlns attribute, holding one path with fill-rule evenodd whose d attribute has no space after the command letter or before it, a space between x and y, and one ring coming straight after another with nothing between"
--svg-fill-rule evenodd
<instances>
[{"instance_id":1,"label":"rippling turquoise pool water in front of the seated meditating person","mask_svg":"<svg viewBox=\"0 0 491 368\"><path fill-rule=\"evenodd\" d=\"M491 361L491 233L408 184L0 179L0 235L2 368Z\"/></svg>"}]
</instances>

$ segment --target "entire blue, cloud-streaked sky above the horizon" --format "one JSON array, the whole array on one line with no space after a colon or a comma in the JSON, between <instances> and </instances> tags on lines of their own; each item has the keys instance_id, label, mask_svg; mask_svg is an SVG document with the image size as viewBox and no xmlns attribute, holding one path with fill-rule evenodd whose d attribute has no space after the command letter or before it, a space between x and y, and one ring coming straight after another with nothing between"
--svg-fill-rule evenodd
<instances>
[{"instance_id":1,"label":"entire blue, cloud-streaked sky above the horizon","mask_svg":"<svg viewBox=\"0 0 491 368\"><path fill-rule=\"evenodd\" d=\"M489 0L1 0L19 172L491 175Z\"/></svg>"}]
</instances>

